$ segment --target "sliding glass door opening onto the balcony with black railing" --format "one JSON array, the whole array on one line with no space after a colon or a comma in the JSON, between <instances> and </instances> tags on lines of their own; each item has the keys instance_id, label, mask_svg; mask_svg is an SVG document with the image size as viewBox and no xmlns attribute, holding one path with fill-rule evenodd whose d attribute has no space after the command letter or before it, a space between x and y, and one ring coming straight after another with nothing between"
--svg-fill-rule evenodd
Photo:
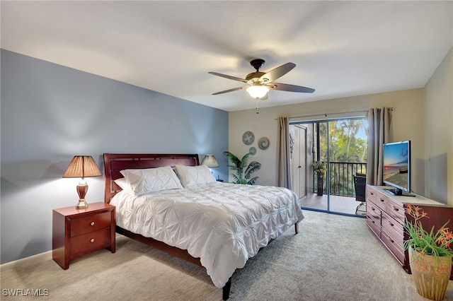
<instances>
[{"instance_id":1,"label":"sliding glass door opening onto the balcony with black railing","mask_svg":"<svg viewBox=\"0 0 453 301\"><path fill-rule=\"evenodd\" d=\"M366 174L367 124L363 118L303 122L289 126L292 184L302 207L365 215L355 176ZM316 172L320 165L320 172Z\"/></svg>"}]
</instances>

